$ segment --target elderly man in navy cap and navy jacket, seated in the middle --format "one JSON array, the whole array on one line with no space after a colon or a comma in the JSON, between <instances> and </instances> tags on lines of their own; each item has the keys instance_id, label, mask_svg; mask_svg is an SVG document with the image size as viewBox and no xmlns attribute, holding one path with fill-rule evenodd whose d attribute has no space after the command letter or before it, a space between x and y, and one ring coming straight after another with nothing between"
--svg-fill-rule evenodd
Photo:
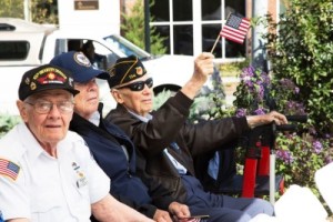
<instances>
[{"instance_id":1,"label":"elderly man in navy cap and navy jacket, seated in the middle","mask_svg":"<svg viewBox=\"0 0 333 222\"><path fill-rule=\"evenodd\" d=\"M95 78L103 79L109 74L93 69L80 52L62 53L53 58L51 63L73 74L74 88L80 93L74 98L70 129L83 137L98 164L112 180L110 193L155 221L171 222L169 212L176 219L189 216L188 206L169 195L149 195L148 188L135 175L137 154L133 143L117 125L101 118L102 103L99 103Z\"/></svg>"}]
</instances>

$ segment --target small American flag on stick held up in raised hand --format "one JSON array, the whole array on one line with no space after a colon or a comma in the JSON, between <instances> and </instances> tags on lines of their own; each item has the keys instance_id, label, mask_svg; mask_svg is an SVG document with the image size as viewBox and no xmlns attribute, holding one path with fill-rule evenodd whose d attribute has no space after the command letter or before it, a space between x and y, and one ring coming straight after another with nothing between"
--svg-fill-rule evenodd
<instances>
[{"instance_id":1,"label":"small American flag on stick held up in raised hand","mask_svg":"<svg viewBox=\"0 0 333 222\"><path fill-rule=\"evenodd\" d=\"M244 42L249 28L249 19L235 13L231 13L226 19L220 36L241 44Z\"/></svg>"}]
</instances>

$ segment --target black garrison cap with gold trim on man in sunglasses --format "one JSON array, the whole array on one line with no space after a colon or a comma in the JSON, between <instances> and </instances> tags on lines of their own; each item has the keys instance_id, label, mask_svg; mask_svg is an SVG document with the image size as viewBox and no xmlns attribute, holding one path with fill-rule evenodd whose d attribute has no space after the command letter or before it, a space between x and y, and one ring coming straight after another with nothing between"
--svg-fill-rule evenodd
<instances>
[{"instance_id":1,"label":"black garrison cap with gold trim on man in sunglasses","mask_svg":"<svg viewBox=\"0 0 333 222\"><path fill-rule=\"evenodd\" d=\"M147 73L142 62L135 56L120 58L115 64L108 69L109 72L109 87L114 88L119 84L130 82Z\"/></svg>"}]
</instances>

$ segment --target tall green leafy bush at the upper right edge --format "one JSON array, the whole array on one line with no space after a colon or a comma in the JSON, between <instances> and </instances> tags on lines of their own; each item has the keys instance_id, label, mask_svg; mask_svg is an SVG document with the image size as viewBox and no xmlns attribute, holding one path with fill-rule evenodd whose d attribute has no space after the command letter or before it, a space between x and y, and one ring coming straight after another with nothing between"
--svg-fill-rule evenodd
<instances>
[{"instance_id":1,"label":"tall green leafy bush at the upper right edge","mask_svg":"<svg viewBox=\"0 0 333 222\"><path fill-rule=\"evenodd\" d=\"M275 77L300 87L317 134L333 133L333 3L332 0L289 0L285 12L268 14L263 33ZM279 29L278 29L279 27Z\"/></svg>"}]
</instances>

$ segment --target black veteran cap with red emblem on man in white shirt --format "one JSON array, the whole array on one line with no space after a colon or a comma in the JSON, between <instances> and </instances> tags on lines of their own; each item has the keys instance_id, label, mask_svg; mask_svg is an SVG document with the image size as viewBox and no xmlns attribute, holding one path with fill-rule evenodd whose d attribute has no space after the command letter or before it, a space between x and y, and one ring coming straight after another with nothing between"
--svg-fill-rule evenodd
<instances>
[{"instance_id":1,"label":"black veteran cap with red emblem on man in white shirt","mask_svg":"<svg viewBox=\"0 0 333 222\"><path fill-rule=\"evenodd\" d=\"M79 93L74 89L73 78L68 70L53 64L44 64L23 74L19 87L19 99L24 100L37 92L54 89L67 90L73 95Z\"/></svg>"}]
</instances>

